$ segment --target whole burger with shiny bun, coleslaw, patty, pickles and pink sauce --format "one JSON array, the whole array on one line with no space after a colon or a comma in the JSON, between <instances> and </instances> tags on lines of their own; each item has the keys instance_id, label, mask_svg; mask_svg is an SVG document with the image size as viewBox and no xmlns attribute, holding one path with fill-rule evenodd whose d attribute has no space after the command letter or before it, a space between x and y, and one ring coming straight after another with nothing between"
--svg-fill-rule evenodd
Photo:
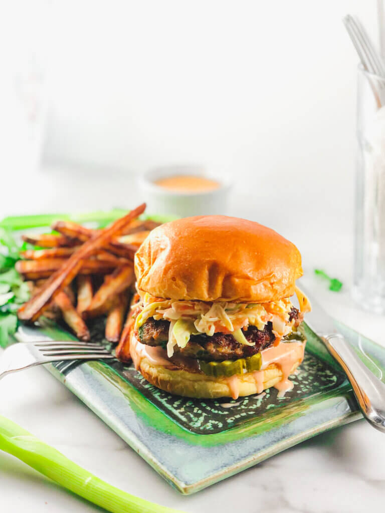
<instances>
[{"instance_id":1,"label":"whole burger with shiny bun, coleslaw, patty, pickles and pink sauce","mask_svg":"<svg viewBox=\"0 0 385 513\"><path fill-rule=\"evenodd\" d=\"M294 244L252 221L196 216L152 230L134 265L137 302L117 353L124 360L129 349L152 385L233 399L293 387L310 310L296 287L302 267Z\"/></svg>"}]
</instances>

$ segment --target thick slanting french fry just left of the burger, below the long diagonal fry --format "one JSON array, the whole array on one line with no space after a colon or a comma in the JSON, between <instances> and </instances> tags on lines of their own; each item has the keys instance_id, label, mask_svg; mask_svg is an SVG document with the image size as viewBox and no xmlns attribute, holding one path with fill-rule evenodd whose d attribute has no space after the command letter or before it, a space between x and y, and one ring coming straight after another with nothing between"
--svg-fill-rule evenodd
<instances>
[{"instance_id":1,"label":"thick slanting french fry just left of the burger, below the long diagonal fry","mask_svg":"<svg viewBox=\"0 0 385 513\"><path fill-rule=\"evenodd\" d=\"M84 310L84 315L95 317L108 311L115 295L128 288L133 281L132 267L123 266L115 269L112 274L108 274L104 278L104 282L92 298L91 304Z\"/></svg>"}]
</instances>

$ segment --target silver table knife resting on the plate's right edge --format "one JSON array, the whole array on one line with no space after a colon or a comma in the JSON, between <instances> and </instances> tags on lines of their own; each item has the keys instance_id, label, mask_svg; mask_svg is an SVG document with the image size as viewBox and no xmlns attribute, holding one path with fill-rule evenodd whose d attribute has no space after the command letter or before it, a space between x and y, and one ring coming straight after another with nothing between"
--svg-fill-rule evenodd
<instances>
[{"instance_id":1,"label":"silver table knife resting on the plate's right edge","mask_svg":"<svg viewBox=\"0 0 385 513\"><path fill-rule=\"evenodd\" d=\"M312 300L305 322L321 338L331 355L341 365L350 381L362 415L376 429L385 433L385 383L359 359L354 347L338 332L333 318Z\"/></svg>"}]
</instances>

